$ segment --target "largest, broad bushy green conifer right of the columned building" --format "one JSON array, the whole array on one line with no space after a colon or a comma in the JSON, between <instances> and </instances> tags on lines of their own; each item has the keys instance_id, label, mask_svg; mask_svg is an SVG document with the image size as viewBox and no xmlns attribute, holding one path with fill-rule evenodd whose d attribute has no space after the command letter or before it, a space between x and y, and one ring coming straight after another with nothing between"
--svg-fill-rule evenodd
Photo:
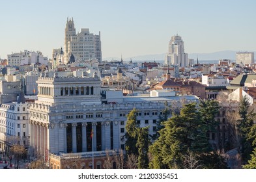
<instances>
[{"instance_id":1,"label":"largest, broad bushy green conifer right of the columned building","mask_svg":"<svg viewBox=\"0 0 256 182\"><path fill-rule=\"evenodd\" d=\"M182 168L182 158L190 151L201 151L205 144L197 142L201 140L200 114L196 109L196 103L184 105L180 115L174 114L160 131L158 140L150 146L152 168Z\"/></svg>"}]
</instances>

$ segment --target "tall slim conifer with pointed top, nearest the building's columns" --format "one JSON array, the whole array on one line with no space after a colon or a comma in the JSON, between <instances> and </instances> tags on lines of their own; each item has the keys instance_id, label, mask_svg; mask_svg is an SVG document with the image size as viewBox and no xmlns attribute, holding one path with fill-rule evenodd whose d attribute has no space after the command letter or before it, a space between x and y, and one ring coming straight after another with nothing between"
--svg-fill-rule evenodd
<instances>
[{"instance_id":1,"label":"tall slim conifer with pointed top, nearest the building's columns","mask_svg":"<svg viewBox=\"0 0 256 182\"><path fill-rule=\"evenodd\" d=\"M127 122L126 122L126 133L125 133L125 149L126 155L134 154L138 155L137 147L135 144L137 143L137 110L134 108L130 111L127 115Z\"/></svg>"}]
</instances>

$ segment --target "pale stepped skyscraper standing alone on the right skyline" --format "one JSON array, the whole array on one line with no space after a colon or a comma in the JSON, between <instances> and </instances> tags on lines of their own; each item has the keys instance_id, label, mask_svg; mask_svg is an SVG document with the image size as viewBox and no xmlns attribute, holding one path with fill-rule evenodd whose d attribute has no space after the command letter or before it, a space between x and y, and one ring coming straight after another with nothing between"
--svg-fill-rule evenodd
<instances>
[{"instance_id":1,"label":"pale stepped skyscraper standing alone on the right skyline","mask_svg":"<svg viewBox=\"0 0 256 182\"><path fill-rule=\"evenodd\" d=\"M188 54L184 53L184 42L181 36L175 35L169 41L169 51L165 57L165 64L181 67L188 66Z\"/></svg>"}]
</instances>

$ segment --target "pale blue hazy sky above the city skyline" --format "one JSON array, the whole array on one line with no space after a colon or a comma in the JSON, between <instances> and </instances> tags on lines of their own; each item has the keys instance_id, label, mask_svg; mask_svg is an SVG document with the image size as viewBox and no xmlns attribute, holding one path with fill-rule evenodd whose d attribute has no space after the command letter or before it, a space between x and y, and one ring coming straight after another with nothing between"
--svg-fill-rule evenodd
<instances>
[{"instance_id":1,"label":"pale blue hazy sky above the city skyline","mask_svg":"<svg viewBox=\"0 0 256 182\"><path fill-rule=\"evenodd\" d=\"M255 0L0 0L0 57L64 47L66 18L101 32L102 57L167 53L174 34L186 53L256 51Z\"/></svg>"}]
</instances>

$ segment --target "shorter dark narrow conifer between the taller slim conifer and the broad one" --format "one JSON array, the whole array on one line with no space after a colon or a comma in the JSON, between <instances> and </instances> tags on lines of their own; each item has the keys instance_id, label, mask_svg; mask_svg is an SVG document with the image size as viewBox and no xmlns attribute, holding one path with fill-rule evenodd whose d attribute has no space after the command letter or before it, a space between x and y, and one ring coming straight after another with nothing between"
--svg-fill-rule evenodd
<instances>
[{"instance_id":1,"label":"shorter dark narrow conifer between the taller slim conifer and the broad one","mask_svg":"<svg viewBox=\"0 0 256 182\"><path fill-rule=\"evenodd\" d=\"M147 169L149 168L149 127L139 127L137 132L138 137L136 147L139 152L137 157L137 168Z\"/></svg>"}]
</instances>

